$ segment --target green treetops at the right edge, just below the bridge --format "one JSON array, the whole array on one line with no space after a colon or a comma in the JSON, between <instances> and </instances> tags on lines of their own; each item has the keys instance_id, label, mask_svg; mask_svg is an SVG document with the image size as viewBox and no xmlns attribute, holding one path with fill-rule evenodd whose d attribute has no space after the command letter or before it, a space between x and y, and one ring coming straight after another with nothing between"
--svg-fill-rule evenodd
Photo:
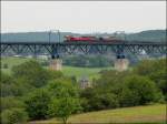
<instances>
[{"instance_id":1,"label":"green treetops at the right edge, just below the bridge","mask_svg":"<svg viewBox=\"0 0 167 124\"><path fill-rule=\"evenodd\" d=\"M135 69L134 72L148 76L156 83L167 100L167 60L144 60Z\"/></svg>"}]
</instances>

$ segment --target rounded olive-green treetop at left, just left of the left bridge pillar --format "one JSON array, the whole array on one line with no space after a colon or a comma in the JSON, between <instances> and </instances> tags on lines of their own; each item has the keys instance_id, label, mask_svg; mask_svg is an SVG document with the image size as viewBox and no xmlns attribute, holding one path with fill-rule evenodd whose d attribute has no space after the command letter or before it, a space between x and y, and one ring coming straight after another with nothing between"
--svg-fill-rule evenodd
<instances>
[{"instance_id":1,"label":"rounded olive-green treetop at left, just left of the left bridge pillar","mask_svg":"<svg viewBox=\"0 0 167 124\"><path fill-rule=\"evenodd\" d=\"M33 60L13 66L12 73L16 79L24 79L24 82L35 87L43 86L49 80L47 71Z\"/></svg>"}]
</instances>

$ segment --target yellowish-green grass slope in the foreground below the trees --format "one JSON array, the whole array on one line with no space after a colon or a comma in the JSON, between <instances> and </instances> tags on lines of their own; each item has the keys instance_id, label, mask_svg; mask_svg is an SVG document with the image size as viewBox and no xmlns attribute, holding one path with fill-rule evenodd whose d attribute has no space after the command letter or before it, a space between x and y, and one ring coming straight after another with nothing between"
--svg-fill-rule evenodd
<instances>
[{"instance_id":1,"label":"yellowish-green grass slope in the foreground below the trees","mask_svg":"<svg viewBox=\"0 0 167 124\"><path fill-rule=\"evenodd\" d=\"M58 120L52 118L48 121L30 122L30 124L56 124L60 123ZM156 123L166 124L166 105L147 105L124 107L116 110L107 110L99 112L90 112L78 115L72 115L68 123Z\"/></svg>"}]
</instances>

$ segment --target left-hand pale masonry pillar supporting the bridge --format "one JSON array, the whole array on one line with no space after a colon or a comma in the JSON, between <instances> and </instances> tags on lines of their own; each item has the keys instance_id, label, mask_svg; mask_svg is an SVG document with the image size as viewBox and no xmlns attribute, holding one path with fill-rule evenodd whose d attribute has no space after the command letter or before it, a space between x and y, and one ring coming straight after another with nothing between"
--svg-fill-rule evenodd
<instances>
[{"instance_id":1,"label":"left-hand pale masonry pillar supporting the bridge","mask_svg":"<svg viewBox=\"0 0 167 124\"><path fill-rule=\"evenodd\" d=\"M62 70L62 60L61 59L51 60L49 68L50 68L50 70L61 71Z\"/></svg>"}]
</instances>

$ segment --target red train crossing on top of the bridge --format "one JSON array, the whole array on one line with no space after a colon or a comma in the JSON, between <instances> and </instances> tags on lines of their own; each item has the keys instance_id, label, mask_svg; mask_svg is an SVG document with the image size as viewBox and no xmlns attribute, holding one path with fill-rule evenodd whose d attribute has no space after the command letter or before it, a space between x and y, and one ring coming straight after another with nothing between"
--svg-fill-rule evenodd
<instances>
[{"instance_id":1,"label":"red train crossing on top of the bridge","mask_svg":"<svg viewBox=\"0 0 167 124\"><path fill-rule=\"evenodd\" d=\"M116 37L72 37L66 35L65 42L121 42L121 39Z\"/></svg>"}]
</instances>

